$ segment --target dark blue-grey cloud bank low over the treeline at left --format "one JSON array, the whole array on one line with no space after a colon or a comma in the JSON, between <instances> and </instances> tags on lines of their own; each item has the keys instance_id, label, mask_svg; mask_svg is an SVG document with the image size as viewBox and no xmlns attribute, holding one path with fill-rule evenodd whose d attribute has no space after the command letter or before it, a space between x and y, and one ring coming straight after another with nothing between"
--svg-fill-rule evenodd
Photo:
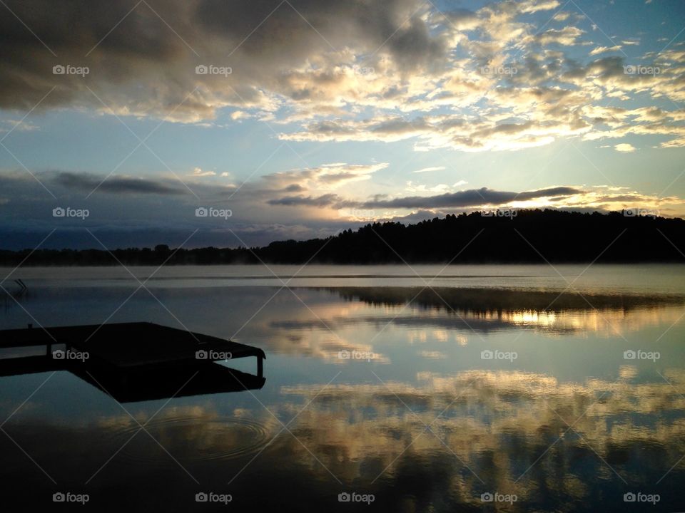
<instances>
[{"instance_id":1,"label":"dark blue-grey cloud bank low over the treeline at left","mask_svg":"<svg viewBox=\"0 0 685 513\"><path fill-rule=\"evenodd\" d=\"M274 240L326 237L350 227L350 222L342 218L319 220L300 217L298 209L290 209L275 220L273 212L265 209L262 197L256 199L255 195L241 192L227 201L223 197L223 188L216 184L188 182L188 186L198 194L198 199L173 178L145 180L141 187L140 180L131 185L127 180L112 176L101 187L112 180L114 187L120 189L118 193L111 194L98 188L86 198L88 192L105 177L59 171L36 172L36 178L46 185L53 197L36 185L34 177L26 172L0 172L0 248L34 248L54 230L42 247L98 247L98 242L86 228L107 247L113 248L150 247L155 244L174 246L196 231L187 247L237 247L240 240L250 246L263 246ZM176 187L185 193L165 192ZM37 188L41 192L37 193ZM229 208L233 216L228 219L197 217L196 209L201 206ZM85 219L54 217L53 209L56 207L88 209L89 215Z\"/></svg>"}]
</instances>

